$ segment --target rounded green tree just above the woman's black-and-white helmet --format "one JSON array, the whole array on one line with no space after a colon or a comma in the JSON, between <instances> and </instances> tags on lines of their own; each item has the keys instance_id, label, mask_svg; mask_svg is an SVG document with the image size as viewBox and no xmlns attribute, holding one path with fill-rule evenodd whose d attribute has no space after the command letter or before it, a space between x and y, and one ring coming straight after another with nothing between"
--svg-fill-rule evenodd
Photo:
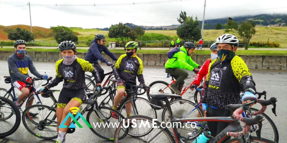
<instances>
[{"instance_id":1,"label":"rounded green tree just above the woman's black-and-white helmet","mask_svg":"<svg viewBox=\"0 0 287 143\"><path fill-rule=\"evenodd\" d=\"M56 26L56 27L50 27L53 30L53 33L55 34L55 40L57 43L61 43L63 41L72 41L77 43L78 42L78 36L74 34L74 32L65 26Z\"/></svg>"}]
</instances>

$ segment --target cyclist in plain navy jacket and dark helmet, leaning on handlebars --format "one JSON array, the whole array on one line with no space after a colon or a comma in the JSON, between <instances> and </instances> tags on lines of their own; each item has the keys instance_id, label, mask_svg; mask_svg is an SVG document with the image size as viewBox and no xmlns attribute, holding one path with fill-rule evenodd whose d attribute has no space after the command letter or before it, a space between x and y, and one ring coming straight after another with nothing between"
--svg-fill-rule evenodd
<instances>
[{"instance_id":1,"label":"cyclist in plain navy jacket and dark helmet, leaning on handlebars","mask_svg":"<svg viewBox=\"0 0 287 143\"><path fill-rule=\"evenodd\" d=\"M106 36L103 34L96 34L95 39L92 40L92 45L88 49L88 52L85 56L85 60L89 61L93 64L94 67L98 69L98 72L100 74L101 81L104 80L104 69L99 65L98 60L100 60L103 63L106 63L108 66L111 66L112 63L110 63L108 60L106 60L101 53L104 52L108 56L110 56L114 61L117 61L117 57L106 47Z\"/></svg>"}]
</instances>

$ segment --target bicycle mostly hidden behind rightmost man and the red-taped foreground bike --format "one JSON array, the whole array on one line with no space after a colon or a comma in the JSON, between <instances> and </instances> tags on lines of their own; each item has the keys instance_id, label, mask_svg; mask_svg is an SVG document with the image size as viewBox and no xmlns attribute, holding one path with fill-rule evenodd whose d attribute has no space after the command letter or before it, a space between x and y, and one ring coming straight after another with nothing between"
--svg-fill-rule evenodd
<instances>
[{"instance_id":1,"label":"bicycle mostly hidden behind rightmost man and the red-taped foreground bike","mask_svg":"<svg viewBox=\"0 0 287 143\"><path fill-rule=\"evenodd\" d=\"M197 92L201 93L200 95L202 97L202 91L204 89L195 89L195 90ZM265 91L263 91L262 93L256 92L256 94L259 95L258 99L260 99L262 95L266 94L266 92ZM264 99L266 99L266 96L264 97ZM172 109L177 110L177 112L181 113L181 114L175 114L174 115L177 118L183 119L183 118L192 118L192 117L203 117L203 112L202 112L201 108L199 108L201 106L201 102L200 103L194 103L194 102L191 102L189 100L179 99L179 100L174 100L174 101L170 102L170 106L172 107ZM258 111L255 108L249 108L249 110L253 111L253 112ZM166 111L167 111L167 108L165 107L163 112L162 112L162 120L163 121L167 121L166 119L169 119L168 118L169 114L166 114ZM264 128L262 130L264 132L262 132L262 135L269 140L274 140L275 142L278 142L279 141L279 134L278 134L278 130L277 130L276 125L266 114L262 113L261 115L265 119L267 119L267 120L263 121ZM242 116L247 117L247 118L251 118L251 116L248 115L248 111L244 111L242 113ZM205 123L203 123L203 124L205 124ZM257 127L258 127L258 125L252 125L251 126L251 130L249 132L252 134L252 136L256 136L255 131L258 129ZM273 132L271 132L269 130L270 128L273 129L272 130ZM198 131L198 130L199 129L194 130L194 131ZM181 134L188 134L190 132L189 130L185 130L185 129L181 129L181 128L179 128L178 131Z\"/></svg>"}]
</instances>

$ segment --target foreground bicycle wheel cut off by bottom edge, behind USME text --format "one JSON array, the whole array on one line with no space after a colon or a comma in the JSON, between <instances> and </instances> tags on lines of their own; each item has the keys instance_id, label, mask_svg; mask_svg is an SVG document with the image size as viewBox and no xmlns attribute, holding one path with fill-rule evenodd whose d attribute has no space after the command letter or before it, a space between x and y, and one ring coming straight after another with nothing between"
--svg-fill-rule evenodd
<instances>
[{"instance_id":1,"label":"foreground bicycle wheel cut off by bottom edge, behind USME text","mask_svg":"<svg viewBox=\"0 0 287 143\"><path fill-rule=\"evenodd\" d=\"M128 126L129 122L132 121L131 127ZM144 124L141 124L144 123ZM152 128L152 124L157 126L158 128ZM146 136L133 138L130 136L126 136L125 138L121 138L123 134L126 133L127 130L130 130L132 127L133 130L137 131L137 134L142 134L142 132L146 132L147 130L151 130L150 134ZM125 118L125 122L121 122L119 127L115 130L115 143L126 143L126 142L151 142L151 143L174 143L174 140L168 130L165 127L160 126L160 122L154 121L153 118L143 115L135 115Z\"/></svg>"}]
</instances>

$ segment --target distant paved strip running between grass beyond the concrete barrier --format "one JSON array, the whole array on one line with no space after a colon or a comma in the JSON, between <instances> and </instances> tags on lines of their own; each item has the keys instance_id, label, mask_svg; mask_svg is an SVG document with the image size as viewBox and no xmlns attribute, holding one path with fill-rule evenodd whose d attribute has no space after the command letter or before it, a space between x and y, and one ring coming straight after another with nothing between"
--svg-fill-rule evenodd
<instances>
[{"instance_id":1,"label":"distant paved strip running between grass beyond the concrete barrier","mask_svg":"<svg viewBox=\"0 0 287 143\"><path fill-rule=\"evenodd\" d=\"M14 48L9 46L3 46L4 48ZM58 47L28 47L28 48L43 48L43 49L56 49ZM77 49L89 49L89 47L77 47ZM116 49L123 49L123 47L116 47ZM166 50L169 49L168 47L142 47L141 49L144 50ZM287 48L248 48L250 50L279 50L279 51L286 51ZM210 50L209 48L202 48L202 50ZM244 50L244 48L238 48L238 50Z\"/></svg>"}]
</instances>

